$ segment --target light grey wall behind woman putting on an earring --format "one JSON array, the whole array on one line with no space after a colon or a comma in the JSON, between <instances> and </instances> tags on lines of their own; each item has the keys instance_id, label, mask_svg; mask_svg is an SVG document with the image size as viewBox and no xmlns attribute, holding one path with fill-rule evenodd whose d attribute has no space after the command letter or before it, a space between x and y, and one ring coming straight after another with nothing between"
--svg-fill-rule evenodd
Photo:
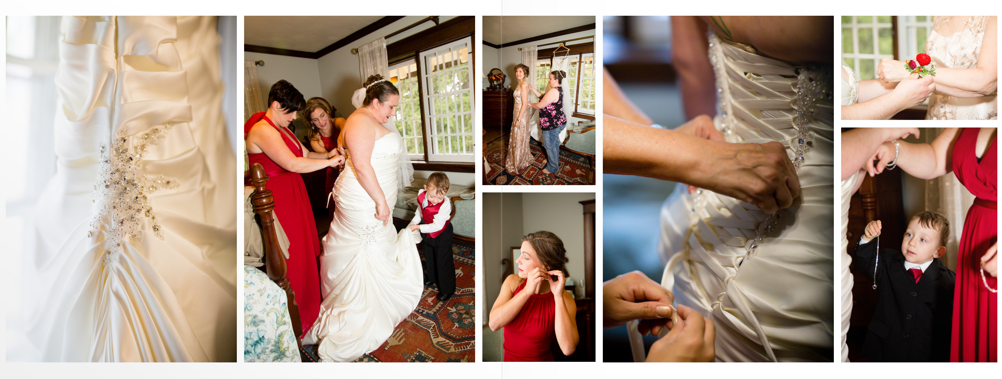
<instances>
[{"instance_id":1,"label":"light grey wall behind woman putting on an earring","mask_svg":"<svg viewBox=\"0 0 1002 379\"><path fill-rule=\"evenodd\" d=\"M522 235L538 231L557 235L567 250L567 271L575 284L584 281L584 208L578 202L594 199L594 193L522 195Z\"/></svg>"}]
</instances>

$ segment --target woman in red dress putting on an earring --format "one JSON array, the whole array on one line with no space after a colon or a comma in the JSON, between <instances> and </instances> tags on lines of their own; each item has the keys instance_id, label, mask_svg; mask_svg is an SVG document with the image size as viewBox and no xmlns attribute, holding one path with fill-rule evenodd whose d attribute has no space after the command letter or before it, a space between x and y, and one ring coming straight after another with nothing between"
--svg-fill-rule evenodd
<instances>
[{"instance_id":1,"label":"woman in red dress putting on an earring","mask_svg":"<svg viewBox=\"0 0 1002 379\"><path fill-rule=\"evenodd\" d=\"M504 328L506 362L552 362L554 339L564 355L574 354L577 306L563 289L565 253L563 241L550 232L522 237L518 274L505 279L491 309L491 330Z\"/></svg>"}]
</instances>

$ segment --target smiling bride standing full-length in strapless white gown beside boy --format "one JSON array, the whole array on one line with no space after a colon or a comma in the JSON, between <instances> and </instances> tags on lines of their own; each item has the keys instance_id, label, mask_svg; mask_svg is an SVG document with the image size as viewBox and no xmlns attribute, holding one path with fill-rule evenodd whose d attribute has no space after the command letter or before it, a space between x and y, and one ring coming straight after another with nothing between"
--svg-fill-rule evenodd
<instances>
[{"instance_id":1,"label":"smiling bride standing full-length in strapless white gown beside boy","mask_svg":"<svg viewBox=\"0 0 1002 379\"><path fill-rule=\"evenodd\" d=\"M390 204L397 201L398 159L407 159L400 134L383 124L397 112L400 92L371 75L362 107L348 120L338 144L346 168L334 185L337 202L320 257L324 302L303 339L319 345L325 362L351 362L385 342L418 306L424 285L416 232L395 232Z\"/></svg>"}]
</instances>

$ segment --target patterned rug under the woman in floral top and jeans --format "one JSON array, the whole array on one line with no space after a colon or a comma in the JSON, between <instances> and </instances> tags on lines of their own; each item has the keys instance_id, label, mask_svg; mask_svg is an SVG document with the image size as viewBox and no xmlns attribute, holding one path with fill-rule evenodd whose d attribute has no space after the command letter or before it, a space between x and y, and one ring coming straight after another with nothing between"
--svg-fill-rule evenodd
<instances>
[{"instance_id":1,"label":"patterned rug under the woman in floral top and jeans","mask_svg":"<svg viewBox=\"0 0 1002 379\"><path fill-rule=\"evenodd\" d=\"M560 148L560 167L557 174L548 175L543 172L546 167L546 150L539 141L529 138L532 149L532 162L518 174L509 173L504 168L505 157L508 155L508 139L511 133L505 133L487 143L484 147L484 160L490 164L486 184L594 184L595 167L590 156Z\"/></svg>"}]
</instances>

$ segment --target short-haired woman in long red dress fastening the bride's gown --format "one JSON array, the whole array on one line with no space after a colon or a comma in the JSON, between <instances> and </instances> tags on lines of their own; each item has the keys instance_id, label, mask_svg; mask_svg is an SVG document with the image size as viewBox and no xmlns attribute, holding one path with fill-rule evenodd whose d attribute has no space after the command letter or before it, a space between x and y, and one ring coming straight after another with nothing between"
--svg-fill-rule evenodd
<instances>
[{"instance_id":1,"label":"short-haired woman in long red dress fastening the bride's gown","mask_svg":"<svg viewBox=\"0 0 1002 379\"><path fill-rule=\"evenodd\" d=\"M289 237L289 282L300 308L303 331L310 330L320 315L323 300L317 257L322 253L310 199L303 176L323 167L343 164L335 152L313 152L287 128L305 106L303 94L286 80L279 80L268 93L269 108L255 113L243 124L243 139L249 164L261 163L268 174L266 188L275 197L275 215Z\"/></svg>"}]
</instances>

